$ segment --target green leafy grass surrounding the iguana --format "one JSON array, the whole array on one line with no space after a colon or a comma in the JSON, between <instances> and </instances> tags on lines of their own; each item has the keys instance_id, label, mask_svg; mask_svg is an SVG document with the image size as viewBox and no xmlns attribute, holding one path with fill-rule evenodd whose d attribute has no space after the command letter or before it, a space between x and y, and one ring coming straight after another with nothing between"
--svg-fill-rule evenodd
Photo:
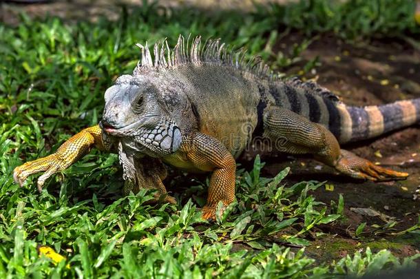
<instances>
[{"instance_id":1,"label":"green leafy grass surrounding the iguana","mask_svg":"<svg viewBox=\"0 0 420 279\"><path fill-rule=\"evenodd\" d=\"M11 176L17 165L50 154L98 122L103 92L138 61L137 42L167 37L174 45L178 34L190 32L221 37L281 70L293 65L319 32L349 40L419 34L414 1L365 2L317 0L249 14L151 4L120 8L116 22L63 23L22 15L17 26L0 23L0 277L302 278L413 267L413 259L399 260L386 250L366 249L339 262L308 258L300 247L311 245L311 236L322 237L317 226L341 218L343 200L333 207L317 202L311 196L321 185L316 182L286 187L281 180L287 169L262 178L258 158L250 172L238 171L238 202L216 224L203 223L196 209L204 203L206 181L178 176L168 182L169 189L185 188L176 194L177 206L146 205L152 193L122 197L118 158L95 150L48 180L42 194L35 178L19 188ZM291 53L274 52L290 30L301 30L308 41ZM54 265L39 256L38 245L52 247L67 261Z\"/></svg>"}]
</instances>

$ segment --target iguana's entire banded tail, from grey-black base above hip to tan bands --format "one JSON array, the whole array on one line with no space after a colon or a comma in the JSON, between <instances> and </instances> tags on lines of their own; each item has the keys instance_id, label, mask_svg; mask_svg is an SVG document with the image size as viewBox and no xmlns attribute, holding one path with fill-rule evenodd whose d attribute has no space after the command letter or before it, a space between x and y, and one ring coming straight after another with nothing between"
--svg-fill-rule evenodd
<instances>
[{"instance_id":1,"label":"iguana's entire banded tail, from grey-black base above hip to tan bands","mask_svg":"<svg viewBox=\"0 0 420 279\"><path fill-rule=\"evenodd\" d=\"M420 122L420 99L349 106L317 83L296 78L271 84L267 92L275 105L327 127L339 143L363 141Z\"/></svg>"}]
</instances>

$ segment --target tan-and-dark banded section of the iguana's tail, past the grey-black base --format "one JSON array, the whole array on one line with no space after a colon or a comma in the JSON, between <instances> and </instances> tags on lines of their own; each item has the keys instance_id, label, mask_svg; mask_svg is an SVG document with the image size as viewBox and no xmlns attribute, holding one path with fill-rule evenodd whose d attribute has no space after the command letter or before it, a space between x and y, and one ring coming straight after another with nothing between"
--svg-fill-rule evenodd
<instances>
[{"instance_id":1,"label":"tan-and-dark banded section of the iguana's tail, past the grey-black base","mask_svg":"<svg viewBox=\"0 0 420 279\"><path fill-rule=\"evenodd\" d=\"M340 143L363 141L420 122L420 99L366 107L337 103L335 107L338 117L330 121L335 126L330 130Z\"/></svg>"}]
</instances>

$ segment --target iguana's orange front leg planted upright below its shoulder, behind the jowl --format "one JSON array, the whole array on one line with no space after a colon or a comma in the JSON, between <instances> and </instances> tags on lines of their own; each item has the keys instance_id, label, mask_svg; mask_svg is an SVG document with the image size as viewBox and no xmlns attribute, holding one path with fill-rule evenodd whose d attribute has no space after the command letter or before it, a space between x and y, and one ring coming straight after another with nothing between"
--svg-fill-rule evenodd
<instances>
[{"instance_id":1,"label":"iguana's orange front leg planted upright below its shoulder, behind the jowl","mask_svg":"<svg viewBox=\"0 0 420 279\"><path fill-rule=\"evenodd\" d=\"M218 203L227 206L235 199L235 159L220 141L206 134L197 133L190 144L189 161L202 171L213 172L202 218L215 220Z\"/></svg>"}]
</instances>

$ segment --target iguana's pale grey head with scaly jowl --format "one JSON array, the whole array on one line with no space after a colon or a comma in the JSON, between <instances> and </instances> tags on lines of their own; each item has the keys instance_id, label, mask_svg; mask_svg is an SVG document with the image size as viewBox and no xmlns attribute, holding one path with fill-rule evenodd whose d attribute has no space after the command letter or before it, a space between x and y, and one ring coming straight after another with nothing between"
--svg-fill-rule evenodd
<instances>
[{"instance_id":1,"label":"iguana's pale grey head with scaly jowl","mask_svg":"<svg viewBox=\"0 0 420 279\"><path fill-rule=\"evenodd\" d=\"M161 96L145 76L120 76L105 92L102 129L110 136L130 138L134 149L151 156L176 152L181 132Z\"/></svg>"}]
</instances>

